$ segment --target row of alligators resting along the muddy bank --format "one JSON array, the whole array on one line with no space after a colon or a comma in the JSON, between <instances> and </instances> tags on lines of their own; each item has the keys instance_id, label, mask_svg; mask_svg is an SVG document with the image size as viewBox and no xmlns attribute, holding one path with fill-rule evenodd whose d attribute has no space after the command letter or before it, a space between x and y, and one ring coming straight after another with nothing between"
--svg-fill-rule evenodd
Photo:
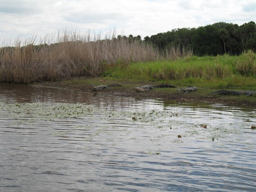
<instances>
[{"instance_id":1,"label":"row of alligators resting along the muddy bank","mask_svg":"<svg viewBox=\"0 0 256 192\"><path fill-rule=\"evenodd\" d=\"M107 89L109 87L122 87L122 85L119 85L119 84L94 86L93 83L92 83L92 86L93 86L93 88L92 88L93 91L100 91L102 89ZM144 85L144 86L140 86L140 87L135 87L134 89L135 89L136 92L146 92L146 91L149 91L150 89L156 89L156 88L176 88L176 87L173 86L173 85L160 84L160 85ZM177 89L177 92L188 94L189 92L195 92L197 90L198 90L197 87L188 86L184 89L183 88ZM219 90L219 91L216 91L216 92L212 92L210 94L251 96L253 94L256 94L256 91Z\"/></svg>"}]
</instances>

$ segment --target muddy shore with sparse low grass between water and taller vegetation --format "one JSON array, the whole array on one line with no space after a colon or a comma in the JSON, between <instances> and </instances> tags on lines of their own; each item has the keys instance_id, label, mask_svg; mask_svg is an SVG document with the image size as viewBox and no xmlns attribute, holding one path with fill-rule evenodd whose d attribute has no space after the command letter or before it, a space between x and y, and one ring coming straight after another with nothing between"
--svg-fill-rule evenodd
<instances>
[{"instance_id":1,"label":"muddy shore with sparse low grass between water and taller vegetation","mask_svg":"<svg viewBox=\"0 0 256 192\"><path fill-rule=\"evenodd\" d=\"M122 87L110 87L100 91L93 91L90 82L97 82L97 85L108 85L112 83L120 84ZM62 80L56 82L36 82L31 84L32 86L43 86L43 87L54 87L54 88L65 88L80 92L92 92L94 95L112 95L122 97L133 97L133 98L145 98L145 99L168 99L176 101L203 101L209 103L221 103L226 105L249 105L256 106L256 96L226 96L226 95L210 95L209 93L216 91L209 88L198 87L198 91L190 92L188 94L177 93L177 88L157 88L150 89L146 92L136 92L135 87L155 84L152 82L130 82L130 81L119 81L113 82L106 80L105 82L99 82L99 78L74 78L70 80ZM96 85L96 86L97 86Z\"/></svg>"}]
</instances>

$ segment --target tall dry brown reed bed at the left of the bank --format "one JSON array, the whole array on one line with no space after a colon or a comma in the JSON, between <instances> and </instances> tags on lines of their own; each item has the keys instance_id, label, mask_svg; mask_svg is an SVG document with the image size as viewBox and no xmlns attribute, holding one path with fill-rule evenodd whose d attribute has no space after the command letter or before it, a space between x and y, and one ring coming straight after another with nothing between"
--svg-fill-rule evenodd
<instances>
[{"instance_id":1,"label":"tall dry brown reed bed at the left of the bank","mask_svg":"<svg viewBox=\"0 0 256 192\"><path fill-rule=\"evenodd\" d=\"M111 40L110 40L111 39ZM127 38L116 39L115 32L101 35L76 30L47 35L40 45L36 37L13 47L0 48L0 82L31 83L79 76L98 76L107 66L157 60L159 52L151 45Z\"/></svg>"}]
</instances>

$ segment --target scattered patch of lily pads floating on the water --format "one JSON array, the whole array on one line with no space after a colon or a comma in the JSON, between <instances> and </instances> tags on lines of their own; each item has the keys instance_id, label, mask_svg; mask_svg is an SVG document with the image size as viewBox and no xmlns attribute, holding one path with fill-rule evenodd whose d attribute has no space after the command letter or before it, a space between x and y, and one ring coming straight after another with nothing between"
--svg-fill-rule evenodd
<instances>
[{"instance_id":1,"label":"scattered patch of lily pads floating on the water","mask_svg":"<svg viewBox=\"0 0 256 192\"><path fill-rule=\"evenodd\" d=\"M2 117L12 117L11 123L16 126L33 125L38 121L61 121L66 122L72 119L81 119L82 124L70 125L71 129L87 129L92 130L90 136L85 136L84 141L91 141L95 136L111 136L106 138L107 141L111 141L113 132L111 130L117 130L119 134L132 135L141 129L154 130L148 138L148 141L153 137L163 139L169 137L169 141L175 141L177 134L183 136L193 136L191 139L200 139L210 141L212 138L216 140L218 138L227 138L232 134L241 134L242 129L236 129L230 126L209 126L207 129L200 127L202 122L201 116L191 116L189 114L183 114L175 109L171 112L171 108L165 110L148 110L143 112L132 111L116 111L115 109L105 109L102 107L95 107L94 105L86 104L72 104L72 103L1 103L0 109ZM176 116L177 114L177 116ZM175 118L173 118L174 116ZM134 120L137 121L134 121ZM75 121L77 121L75 120ZM85 121L86 120L86 121ZM211 120L214 120L212 118ZM205 119L204 119L205 121ZM101 122L101 125L97 123ZM198 125L198 126L197 126ZM203 125L203 124L202 124ZM170 128L171 127L171 128ZM162 134L167 132L166 134ZM157 133L157 134L155 134ZM69 132L69 134L72 134ZM119 136L117 134L117 136ZM145 132L145 135L148 133ZM52 133L52 136L63 136L64 133ZM141 136L130 136L128 140L140 139ZM145 141L145 139L144 139ZM157 143L156 143L157 144Z\"/></svg>"}]
</instances>

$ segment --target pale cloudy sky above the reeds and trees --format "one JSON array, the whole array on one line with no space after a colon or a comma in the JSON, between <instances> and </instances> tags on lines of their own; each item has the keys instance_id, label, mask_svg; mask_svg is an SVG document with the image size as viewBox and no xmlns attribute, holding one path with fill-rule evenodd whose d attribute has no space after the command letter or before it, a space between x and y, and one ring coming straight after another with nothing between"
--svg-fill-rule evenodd
<instances>
[{"instance_id":1,"label":"pale cloudy sky above the reeds and trees","mask_svg":"<svg viewBox=\"0 0 256 192\"><path fill-rule=\"evenodd\" d=\"M68 28L151 36L176 28L256 22L256 0L0 0L0 39Z\"/></svg>"}]
</instances>

